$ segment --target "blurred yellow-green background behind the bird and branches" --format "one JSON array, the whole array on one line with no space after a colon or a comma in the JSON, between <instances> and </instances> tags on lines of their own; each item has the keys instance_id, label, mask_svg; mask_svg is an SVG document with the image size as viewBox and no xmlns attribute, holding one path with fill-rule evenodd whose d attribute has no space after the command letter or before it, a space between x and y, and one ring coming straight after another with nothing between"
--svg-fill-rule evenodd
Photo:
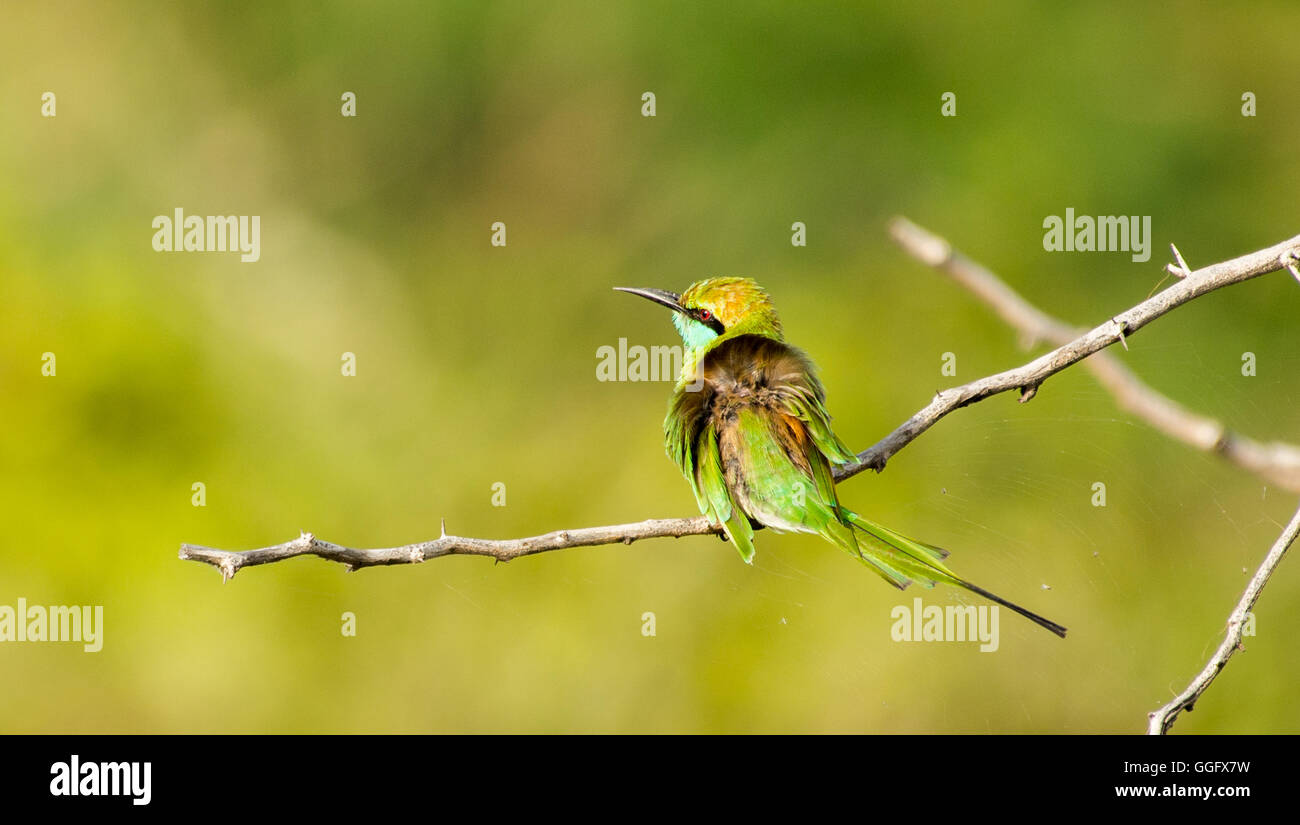
<instances>
[{"instance_id":1,"label":"blurred yellow-green background behind the bird and branches","mask_svg":"<svg viewBox=\"0 0 1300 825\"><path fill-rule=\"evenodd\" d=\"M671 385L595 381L620 336L676 343L612 286L757 278L864 448L936 388L1030 357L889 242L890 216L1080 325L1149 295L1170 242L1202 265L1283 240L1297 29L1292 3L6 4L0 604L103 604L107 626L96 655L0 646L0 730L1141 730L1296 496L1128 418L1082 369L841 486L1066 642L1010 613L996 654L892 642L918 594L771 533L753 568L689 538L355 574L300 559L228 585L177 548L694 513L663 455ZM260 262L155 252L177 207L260 214ZM1152 216L1150 261L1044 252L1067 207ZM1297 307L1273 274L1119 355L1297 442ZM1300 731L1295 568L1176 731Z\"/></svg>"}]
</instances>

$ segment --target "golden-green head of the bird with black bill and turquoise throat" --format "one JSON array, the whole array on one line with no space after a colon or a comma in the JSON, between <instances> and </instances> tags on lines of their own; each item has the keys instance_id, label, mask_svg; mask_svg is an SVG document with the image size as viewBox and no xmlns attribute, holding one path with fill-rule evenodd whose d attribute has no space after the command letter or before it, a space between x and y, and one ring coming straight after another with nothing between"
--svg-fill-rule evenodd
<instances>
[{"instance_id":1,"label":"golden-green head of the bird with black bill and turquoise throat","mask_svg":"<svg viewBox=\"0 0 1300 825\"><path fill-rule=\"evenodd\" d=\"M751 278L707 278L681 295L666 290L615 287L672 309L672 324L686 347L686 361L697 360L724 338L764 335L781 340L776 307Z\"/></svg>"}]
</instances>

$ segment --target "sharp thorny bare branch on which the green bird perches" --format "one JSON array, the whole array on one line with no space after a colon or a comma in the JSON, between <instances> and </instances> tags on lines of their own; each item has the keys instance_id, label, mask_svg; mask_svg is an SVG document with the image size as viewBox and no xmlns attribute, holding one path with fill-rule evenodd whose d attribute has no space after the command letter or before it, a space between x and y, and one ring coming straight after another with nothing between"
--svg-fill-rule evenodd
<instances>
[{"instance_id":1,"label":"sharp thorny bare branch on which the green bird perches","mask_svg":"<svg viewBox=\"0 0 1300 825\"><path fill-rule=\"evenodd\" d=\"M1154 298L1138 304L1132 309L1115 316L1101 326L1074 338L1067 344L1023 366L939 392L930 404L901 424L893 433L875 446L858 453L855 463L836 468L835 478L837 482L844 481L867 468L872 468L876 472L883 470L890 457L933 426L936 421L967 404L982 401L1009 390L1020 390L1020 401L1027 401L1050 375L1109 347L1117 340L1122 340L1124 335L1131 335L1175 307L1180 307L1200 295L1230 283L1238 283L1284 269L1297 257L1300 257L1300 235L1268 249L1190 272L1182 281ZM500 540L454 537L447 535L443 530L439 538L430 542L378 550L342 547L322 542L309 533L304 533L283 544L243 552L216 550L198 544L182 544L179 557L211 564L221 570L222 579L229 579L240 568L304 555L320 556L321 559L342 563L348 569L358 569L385 564L416 564L426 559L447 555L491 556L499 561L507 561L519 556L567 547L630 544L634 540L646 538L707 534L720 535L722 527L710 525L702 516L693 518L653 518L636 524L559 530L545 535Z\"/></svg>"}]
</instances>

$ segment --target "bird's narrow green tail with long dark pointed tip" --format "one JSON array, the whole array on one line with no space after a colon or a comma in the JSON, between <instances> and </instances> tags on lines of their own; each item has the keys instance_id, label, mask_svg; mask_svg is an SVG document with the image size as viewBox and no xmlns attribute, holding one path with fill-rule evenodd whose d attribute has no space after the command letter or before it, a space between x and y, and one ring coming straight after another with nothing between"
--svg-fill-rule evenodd
<instances>
[{"instance_id":1,"label":"bird's narrow green tail with long dark pointed tip","mask_svg":"<svg viewBox=\"0 0 1300 825\"><path fill-rule=\"evenodd\" d=\"M844 522L853 525L861 531L858 534L859 552L857 553L857 557L894 587L902 590L911 582L916 582L922 587L933 587L937 582L965 587L974 594L984 596L989 602L1015 611L1030 621L1046 628L1062 639L1065 638L1066 629L1054 621L1044 618L1037 613L1032 613L1019 604L1008 602L1006 599L994 595L978 585L972 585L963 578L958 578L957 574L949 570L944 564L944 560L948 557L946 550L935 547L933 544L923 544L922 542L910 539L906 535L894 533L889 527L879 525L868 518L863 518L858 513L842 505L840 507L840 514Z\"/></svg>"}]
</instances>

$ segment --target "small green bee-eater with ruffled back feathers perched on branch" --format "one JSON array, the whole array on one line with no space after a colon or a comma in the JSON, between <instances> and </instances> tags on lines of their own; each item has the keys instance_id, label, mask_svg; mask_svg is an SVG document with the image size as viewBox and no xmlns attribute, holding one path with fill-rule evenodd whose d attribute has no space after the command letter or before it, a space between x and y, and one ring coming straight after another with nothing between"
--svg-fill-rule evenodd
<instances>
[{"instance_id":1,"label":"small green bee-eater with ruffled back feathers perched on branch","mask_svg":"<svg viewBox=\"0 0 1300 825\"><path fill-rule=\"evenodd\" d=\"M907 538L840 503L835 466L857 456L831 429L811 359L786 343L771 296L751 278L698 281L681 294L615 287L672 311L681 372L664 448L710 524L748 564L754 531L812 533L904 590L954 585L1065 638L1066 629L953 573L948 551Z\"/></svg>"}]
</instances>

